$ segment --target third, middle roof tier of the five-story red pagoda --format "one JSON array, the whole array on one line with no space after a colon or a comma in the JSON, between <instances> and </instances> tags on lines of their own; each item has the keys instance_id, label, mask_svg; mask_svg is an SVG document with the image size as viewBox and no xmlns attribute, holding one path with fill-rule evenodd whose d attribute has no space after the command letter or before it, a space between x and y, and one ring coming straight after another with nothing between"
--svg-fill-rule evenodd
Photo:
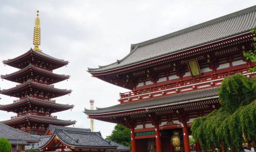
<instances>
[{"instance_id":1,"label":"third, middle roof tier of the five-story red pagoda","mask_svg":"<svg viewBox=\"0 0 256 152\"><path fill-rule=\"evenodd\" d=\"M40 84L38 82L34 82L32 80L28 80L27 82L24 82L23 84L18 84L17 86L9 89L3 89L0 90L1 94L5 94L7 96L14 96L16 92L20 92L20 90L28 90L29 88L36 88L38 90L47 90L47 92L53 92L55 95L49 96L49 98L56 98L58 96L63 96L65 94L71 93L72 90L67 90L67 89L59 89L59 88L54 88L53 86L49 86L46 84ZM22 94L20 96L15 96L15 97L22 97Z\"/></svg>"}]
</instances>

